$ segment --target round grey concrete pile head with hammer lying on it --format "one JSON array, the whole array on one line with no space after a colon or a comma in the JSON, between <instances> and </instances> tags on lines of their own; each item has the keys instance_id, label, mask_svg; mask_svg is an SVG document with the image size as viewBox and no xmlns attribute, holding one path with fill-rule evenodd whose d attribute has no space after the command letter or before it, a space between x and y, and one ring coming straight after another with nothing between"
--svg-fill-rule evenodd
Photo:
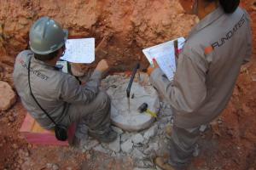
<instances>
[{"instance_id":1,"label":"round grey concrete pile head with hammer lying on it","mask_svg":"<svg viewBox=\"0 0 256 170\"><path fill-rule=\"evenodd\" d=\"M130 111L126 88L130 77L125 75L113 75L107 77L103 84L108 88L108 95L111 98L111 120L117 127L125 131L140 131L148 128L154 117L148 113L139 113L138 107L143 103L148 104L149 111L158 112L160 101L155 89L149 84L148 76L141 74L141 81L136 78L131 87Z\"/></svg>"}]
</instances>

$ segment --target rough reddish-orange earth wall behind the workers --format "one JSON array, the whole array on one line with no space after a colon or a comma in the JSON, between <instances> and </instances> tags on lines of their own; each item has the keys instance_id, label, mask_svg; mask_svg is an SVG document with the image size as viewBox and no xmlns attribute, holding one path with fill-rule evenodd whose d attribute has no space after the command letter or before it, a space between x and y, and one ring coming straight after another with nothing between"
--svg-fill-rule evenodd
<instances>
[{"instance_id":1,"label":"rough reddish-orange earth wall behind the workers","mask_svg":"<svg viewBox=\"0 0 256 170\"><path fill-rule=\"evenodd\" d=\"M44 15L58 20L70 37L96 37L96 44L104 39L99 55L106 52L116 70L131 68L137 59L147 64L143 48L186 35L195 24L176 0L1 1L2 55L14 57L27 48L30 26Z\"/></svg>"}]
</instances>

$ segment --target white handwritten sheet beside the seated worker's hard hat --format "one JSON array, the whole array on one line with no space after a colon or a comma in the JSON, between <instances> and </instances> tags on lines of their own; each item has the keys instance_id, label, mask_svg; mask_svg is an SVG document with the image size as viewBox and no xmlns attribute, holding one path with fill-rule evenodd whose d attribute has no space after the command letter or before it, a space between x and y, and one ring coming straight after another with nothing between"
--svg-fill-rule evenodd
<instances>
[{"instance_id":1,"label":"white handwritten sheet beside the seated worker's hard hat","mask_svg":"<svg viewBox=\"0 0 256 170\"><path fill-rule=\"evenodd\" d=\"M95 38L68 39L61 59L72 63L92 63L95 60Z\"/></svg>"}]
</instances>

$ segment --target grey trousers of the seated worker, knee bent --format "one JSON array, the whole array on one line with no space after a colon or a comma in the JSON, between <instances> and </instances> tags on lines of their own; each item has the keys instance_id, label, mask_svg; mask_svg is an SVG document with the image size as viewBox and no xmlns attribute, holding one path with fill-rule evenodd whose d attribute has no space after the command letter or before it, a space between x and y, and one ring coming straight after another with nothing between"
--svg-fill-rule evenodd
<instances>
[{"instance_id":1,"label":"grey trousers of the seated worker, knee bent","mask_svg":"<svg viewBox=\"0 0 256 170\"><path fill-rule=\"evenodd\" d=\"M69 121L67 121L69 119ZM67 119L63 124L69 126L77 122L76 136L82 138L86 133L86 126L96 133L103 133L110 126L110 99L108 94L101 91L96 99L88 105L70 105Z\"/></svg>"}]
</instances>

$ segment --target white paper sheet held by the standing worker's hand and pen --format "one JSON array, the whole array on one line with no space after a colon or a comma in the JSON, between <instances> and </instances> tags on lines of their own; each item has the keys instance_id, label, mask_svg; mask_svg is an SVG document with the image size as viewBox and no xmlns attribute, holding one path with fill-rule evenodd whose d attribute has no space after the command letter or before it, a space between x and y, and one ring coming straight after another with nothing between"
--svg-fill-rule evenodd
<instances>
[{"instance_id":1,"label":"white paper sheet held by the standing worker's hand and pen","mask_svg":"<svg viewBox=\"0 0 256 170\"><path fill-rule=\"evenodd\" d=\"M185 39L177 38L178 48L183 48ZM150 65L153 65L153 59L156 59L160 69L166 74L166 77L171 81L176 71L174 40L164 42L151 48L143 49L143 54L146 55Z\"/></svg>"}]
</instances>

